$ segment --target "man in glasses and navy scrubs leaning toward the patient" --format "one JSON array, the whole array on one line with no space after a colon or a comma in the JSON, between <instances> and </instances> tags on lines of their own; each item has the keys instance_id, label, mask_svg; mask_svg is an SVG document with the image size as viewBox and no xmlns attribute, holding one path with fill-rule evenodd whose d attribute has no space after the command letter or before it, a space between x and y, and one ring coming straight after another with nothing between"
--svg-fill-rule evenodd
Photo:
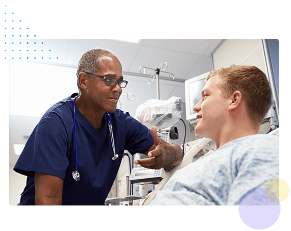
<instances>
[{"instance_id":1,"label":"man in glasses and navy scrubs leaning toward the patient","mask_svg":"<svg viewBox=\"0 0 291 231\"><path fill-rule=\"evenodd\" d=\"M21 205L104 205L124 150L148 155L150 158L134 163L152 169L176 166L183 159L181 148L159 138L156 127L150 131L116 110L121 87L126 83L121 63L113 52L102 48L86 51L79 61L77 77L75 115L80 180L72 177L76 170L73 98L77 95L73 94L44 114L14 167L16 172L28 176ZM106 112L112 121L116 160L112 160Z\"/></svg>"}]
</instances>

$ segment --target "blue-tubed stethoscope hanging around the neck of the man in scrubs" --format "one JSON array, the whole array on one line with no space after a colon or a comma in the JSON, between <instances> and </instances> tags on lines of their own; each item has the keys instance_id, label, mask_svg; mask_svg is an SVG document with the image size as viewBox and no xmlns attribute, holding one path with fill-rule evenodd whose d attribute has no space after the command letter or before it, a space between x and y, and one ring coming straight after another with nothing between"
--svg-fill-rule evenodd
<instances>
[{"instance_id":1,"label":"blue-tubed stethoscope hanging around the neck of the man in scrubs","mask_svg":"<svg viewBox=\"0 0 291 231\"><path fill-rule=\"evenodd\" d=\"M72 172L72 176L75 181L80 180L80 173L78 172L78 153L77 153L77 133L76 133L76 114L75 114L75 105L76 105L76 99L79 96L76 96L74 98L73 103L73 112L74 112L74 133L75 133L75 163L76 163L76 170ZM112 122L111 118L108 112L107 113L107 119L108 119L108 128L110 132L110 139L111 139L111 145L114 153L114 157L112 157L112 161L116 160L118 158L118 154L115 153L115 144L114 144L114 138L113 138L113 129L112 129Z\"/></svg>"}]
</instances>

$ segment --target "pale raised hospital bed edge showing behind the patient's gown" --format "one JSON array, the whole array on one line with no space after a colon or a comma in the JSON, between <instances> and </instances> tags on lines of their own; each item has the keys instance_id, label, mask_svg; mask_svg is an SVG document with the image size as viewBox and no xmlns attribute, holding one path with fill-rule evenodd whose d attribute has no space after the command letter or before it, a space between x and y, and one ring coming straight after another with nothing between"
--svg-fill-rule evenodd
<instances>
[{"instance_id":1,"label":"pale raised hospital bed edge showing behind the patient's gown","mask_svg":"<svg viewBox=\"0 0 291 231\"><path fill-rule=\"evenodd\" d=\"M268 135L279 136L279 128L269 132ZM152 193L148 194L148 197L144 200L143 205L149 205L156 198L156 192L164 188L164 186L169 181L169 179L173 176L173 174L177 170L183 169L189 164L191 164L193 162L194 156L197 155L197 153L201 150L201 148L206 146L211 140L212 139L209 139L209 138L202 138L198 143L192 146L190 150L184 156L183 161L179 165L173 167L173 169L171 169L171 171L165 176L165 178L160 182L160 184L156 187L156 189Z\"/></svg>"}]
</instances>

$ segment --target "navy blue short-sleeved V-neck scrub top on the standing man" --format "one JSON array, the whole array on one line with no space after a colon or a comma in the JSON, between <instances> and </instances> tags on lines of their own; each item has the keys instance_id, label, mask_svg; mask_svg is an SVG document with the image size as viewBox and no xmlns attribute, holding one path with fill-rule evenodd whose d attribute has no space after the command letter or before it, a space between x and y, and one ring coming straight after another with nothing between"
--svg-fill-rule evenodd
<instances>
[{"instance_id":1,"label":"navy blue short-sleeved V-neck scrub top on the standing man","mask_svg":"<svg viewBox=\"0 0 291 231\"><path fill-rule=\"evenodd\" d=\"M70 96L44 114L14 167L16 172L28 176L21 205L35 205L35 172L64 180L62 205L104 205L123 151L144 153L154 144L150 129L117 109L109 113L118 154L118 158L112 161L114 155L107 116L104 116L104 127L98 132L77 107L75 112L80 181L72 177L76 166L73 100Z\"/></svg>"}]
</instances>

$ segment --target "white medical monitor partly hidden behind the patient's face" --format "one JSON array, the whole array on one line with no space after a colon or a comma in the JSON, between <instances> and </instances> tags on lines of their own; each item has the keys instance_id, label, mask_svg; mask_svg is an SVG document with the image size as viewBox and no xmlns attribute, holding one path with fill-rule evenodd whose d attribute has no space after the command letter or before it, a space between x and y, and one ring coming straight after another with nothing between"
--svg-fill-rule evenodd
<instances>
[{"instance_id":1,"label":"white medical monitor partly hidden behind the patient's face","mask_svg":"<svg viewBox=\"0 0 291 231\"><path fill-rule=\"evenodd\" d=\"M201 100L201 92L204 88L204 80L209 72L198 75L190 80L185 81L185 103L186 103L186 119L191 123L196 123L197 113L193 107Z\"/></svg>"}]
</instances>

